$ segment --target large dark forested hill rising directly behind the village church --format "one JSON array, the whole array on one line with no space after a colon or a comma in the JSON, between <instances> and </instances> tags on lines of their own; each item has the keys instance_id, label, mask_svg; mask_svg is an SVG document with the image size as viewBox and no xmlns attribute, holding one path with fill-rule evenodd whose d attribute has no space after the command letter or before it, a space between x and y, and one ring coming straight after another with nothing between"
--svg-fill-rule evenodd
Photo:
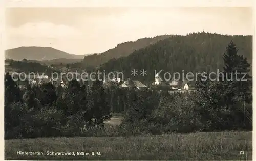
<instances>
[{"instance_id":1,"label":"large dark forested hill rising directly behind the village church","mask_svg":"<svg viewBox=\"0 0 256 161\"><path fill-rule=\"evenodd\" d=\"M154 71L164 72L217 72L223 70L223 53L228 43L238 47L239 55L252 63L252 36L229 36L211 33L192 33L186 36L172 36L146 48L136 50L127 57L112 59L100 70L123 72L125 77L134 78L131 70L147 70L147 75L135 76L141 81L154 80ZM250 75L252 65L250 67Z\"/></svg>"}]
</instances>

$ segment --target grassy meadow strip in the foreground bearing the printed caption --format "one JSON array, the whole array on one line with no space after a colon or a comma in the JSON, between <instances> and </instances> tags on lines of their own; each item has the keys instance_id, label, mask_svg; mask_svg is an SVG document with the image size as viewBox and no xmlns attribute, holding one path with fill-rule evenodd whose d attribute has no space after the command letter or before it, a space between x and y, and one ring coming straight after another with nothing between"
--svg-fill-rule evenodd
<instances>
[{"instance_id":1,"label":"grassy meadow strip in the foreground bearing the printed caption","mask_svg":"<svg viewBox=\"0 0 256 161\"><path fill-rule=\"evenodd\" d=\"M44 155L17 155L17 151ZM75 156L47 155L47 151ZM252 132L5 140L6 160L246 160L246 156L252 160Z\"/></svg>"}]
</instances>

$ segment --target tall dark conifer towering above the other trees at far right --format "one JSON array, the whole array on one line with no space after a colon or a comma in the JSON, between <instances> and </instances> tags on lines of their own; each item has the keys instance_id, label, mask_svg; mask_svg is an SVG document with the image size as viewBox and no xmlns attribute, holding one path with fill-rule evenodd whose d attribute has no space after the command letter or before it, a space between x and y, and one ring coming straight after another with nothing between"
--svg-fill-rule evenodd
<instances>
[{"instance_id":1,"label":"tall dark conifer towering above the other trees at far right","mask_svg":"<svg viewBox=\"0 0 256 161\"><path fill-rule=\"evenodd\" d=\"M221 80L224 84L226 104L231 107L235 102L241 101L244 95L246 101L249 102L251 76L248 73L250 64L246 58L238 55L238 49L233 41L228 44L223 60L224 77Z\"/></svg>"}]
</instances>

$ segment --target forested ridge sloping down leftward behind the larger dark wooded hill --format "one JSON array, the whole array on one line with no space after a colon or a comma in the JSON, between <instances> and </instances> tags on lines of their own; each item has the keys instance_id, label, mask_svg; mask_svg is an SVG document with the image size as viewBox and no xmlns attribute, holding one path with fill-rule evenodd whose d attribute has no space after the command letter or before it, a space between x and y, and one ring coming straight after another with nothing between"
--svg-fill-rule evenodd
<instances>
[{"instance_id":1,"label":"forested ridge sloping down leftward behind the larger dark wooded hill","mask_svg":"<svg viewBox=\"0 0 256 161\"><path fill-rule=\"evenodd\" d=\"M159 40L169 38L170 36L171 35L161 35L153 38L142 38L137 41L124 42L103 53L85 56L83 64L86 66L99 66L108 62L110 59L129 56L135 50L145 48L148 45L155 44Z\"/></svg>"}]
</instances>

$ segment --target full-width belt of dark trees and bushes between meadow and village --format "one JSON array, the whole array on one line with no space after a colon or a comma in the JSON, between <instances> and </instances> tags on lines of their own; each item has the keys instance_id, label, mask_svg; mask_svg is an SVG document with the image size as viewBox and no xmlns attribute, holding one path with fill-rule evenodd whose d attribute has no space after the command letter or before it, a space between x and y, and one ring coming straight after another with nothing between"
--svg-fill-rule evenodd
<instances>
[{"instance_id":1,"label":"full-width belt of dark trees and bushes between meadow and village","mask_svg":"<svg viewBox=\"0 0 256 161\"><path fill-rule=\"evenodd\" d=\"M251 77L238 81L234 71L249 72L233 42L223 56L221 81L198 79L195 92L119 89L70 81L68 87L51 83L17 87L5 76L5 139L56 136L125 136L173 132L252 130ZM120 126L106 126L111 112L123 113Z\"/></svg>"}]
</instances>

